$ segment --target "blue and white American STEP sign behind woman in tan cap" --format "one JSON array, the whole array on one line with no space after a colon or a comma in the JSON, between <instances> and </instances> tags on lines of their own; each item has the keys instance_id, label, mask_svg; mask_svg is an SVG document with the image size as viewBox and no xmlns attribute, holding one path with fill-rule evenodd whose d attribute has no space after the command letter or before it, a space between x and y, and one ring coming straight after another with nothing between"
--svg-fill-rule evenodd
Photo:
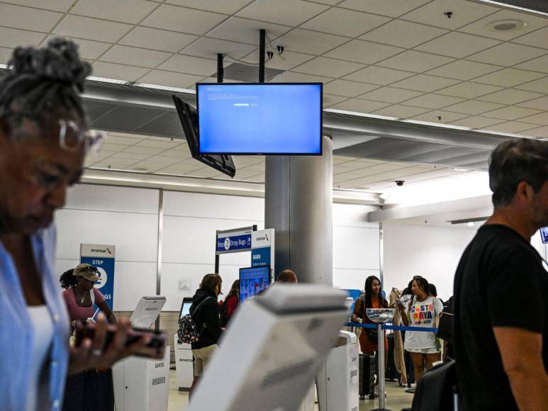
<instances>
[{"instance_id":1,"label":"blue and white American STEP sign behind woman in tan cap","mask_svg":"<svg viewBox=\"0 0 548 411\"><path fill-rule=\"evenodd\" d=\"M108 307L113 310L114 261L116 246L104 244L80 244L80 262L97 268L99 281L95 283L105 297ZM97 310L95 305L95 310Z\"/></svg>"}]
</instances>

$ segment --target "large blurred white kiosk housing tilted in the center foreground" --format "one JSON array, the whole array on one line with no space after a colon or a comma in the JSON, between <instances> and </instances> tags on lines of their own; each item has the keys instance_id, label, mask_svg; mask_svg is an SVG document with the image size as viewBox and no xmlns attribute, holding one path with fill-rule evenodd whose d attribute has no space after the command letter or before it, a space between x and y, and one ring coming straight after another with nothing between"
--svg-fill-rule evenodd
<instances>
[{"instance_id":1,"label":"large blurred white kiosk housing tilted in the center foreground","mask_svg":"<svg viewBox=\"0 0 548 411\"><path fill-rule=\"evenodd\" d=\"M327 286L279 284L242 303L188 411L298 410L335 346L345 299Z\"/></svg>"}]
</instances>

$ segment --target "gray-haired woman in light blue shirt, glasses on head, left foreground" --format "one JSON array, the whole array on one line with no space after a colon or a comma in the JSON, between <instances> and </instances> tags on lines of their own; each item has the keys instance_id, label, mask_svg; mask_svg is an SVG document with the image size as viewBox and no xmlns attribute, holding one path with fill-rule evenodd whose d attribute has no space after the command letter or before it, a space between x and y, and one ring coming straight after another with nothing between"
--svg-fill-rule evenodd
<instances>
[{"instance_id":1,"label":"gray-haired woman in light blue shirt, glasses on head, left foreground","mask_svg":"<svg viewBox=\"0 0 548 411\"><path fill-rule=\"evenodd\" d=\"M79 94L91 67L63 39L18 47L0 77L0 407L58 410L67 374L108 368L131 354L162 358L146 345L125 346L130 322L118 321L105 347L106 319L93 339L69 347L69 320L54 274L55 210L79 180L90 133ZM9 374L9 375L8 375Z\"/></svg>"}]
</instances>

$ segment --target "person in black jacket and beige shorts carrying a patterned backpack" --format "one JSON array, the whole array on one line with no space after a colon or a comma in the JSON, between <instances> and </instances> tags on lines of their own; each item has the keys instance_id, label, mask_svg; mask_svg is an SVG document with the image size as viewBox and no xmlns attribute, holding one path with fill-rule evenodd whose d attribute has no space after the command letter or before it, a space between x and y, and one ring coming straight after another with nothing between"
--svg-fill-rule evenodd
<instances>
[{"instance_id":1,"label":"person in black jacket and beige shorts carrying a patterned backpack","mask_svg":"<svg viewBox=\"0 0 548 411\"><path fill-rule=\"evenodd\" d=\"M194 356L194 381L190 393L194 390L198 379L202 376L211 357L218 347L220 334L223 332L220 327L219 308L217 298L223 280L219 274L206 274L200 283L200 288L192 298L190 315L194 320L200 339L192 343L192 356Z\"/></svg>"}]
</instances>

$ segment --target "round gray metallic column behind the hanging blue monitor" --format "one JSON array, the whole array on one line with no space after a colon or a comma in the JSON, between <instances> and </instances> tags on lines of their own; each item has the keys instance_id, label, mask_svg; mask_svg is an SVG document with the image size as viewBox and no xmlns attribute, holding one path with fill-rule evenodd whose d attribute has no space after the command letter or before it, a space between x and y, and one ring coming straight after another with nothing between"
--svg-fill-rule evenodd
<instances>
[{"instance_id":1,"label":"round gray metallic column behind the hanging blue monitor","mask_svg":"<svg viewBox=\"0 0 548 411\"><path fill-rule=\"evenodd\" d=\"M276 230L274 276L292 269L302 283L333 282L332 141L321 157L267 157L264 227Z\"/></svg>"}]
</instances>

